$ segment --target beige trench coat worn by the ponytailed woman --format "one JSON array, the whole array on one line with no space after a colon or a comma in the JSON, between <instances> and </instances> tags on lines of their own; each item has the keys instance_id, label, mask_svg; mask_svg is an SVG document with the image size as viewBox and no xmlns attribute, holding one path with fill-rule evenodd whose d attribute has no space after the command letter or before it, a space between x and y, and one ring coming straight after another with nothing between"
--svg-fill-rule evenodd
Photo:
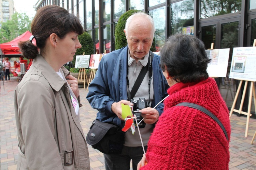
<instances>
[{"instance_id":1,"label":"beige trench coat worn by the ponytailed woman","mask_svg":"<svg viewBox=\"0 0 256 170\"><path fill-rule=\"evenodd\" d=\"M65 77L69 71L61 69ZM71 103L69 85L42 56L33 60L16 87L14 107L17 169L90 169L87 143Z\"/></svg>"}]
</instances>

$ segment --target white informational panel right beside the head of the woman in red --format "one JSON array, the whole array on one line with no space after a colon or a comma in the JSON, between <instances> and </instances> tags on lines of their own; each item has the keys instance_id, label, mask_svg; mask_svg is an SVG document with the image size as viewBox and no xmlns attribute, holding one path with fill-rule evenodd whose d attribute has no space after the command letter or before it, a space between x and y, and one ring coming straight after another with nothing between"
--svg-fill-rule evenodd
<instances>
[{"instance_id":1,"label":"white informational panel right beside the head of the woman in red","mask_svg":"<svg viewBox=\"0 0 256 170\"><path fill-rule=\"evenodd\" d=\"M228 69L229 48L205 50L207 56L212 60L208 64L209 77L226 77Z\"/></svg>"}]
</instances>

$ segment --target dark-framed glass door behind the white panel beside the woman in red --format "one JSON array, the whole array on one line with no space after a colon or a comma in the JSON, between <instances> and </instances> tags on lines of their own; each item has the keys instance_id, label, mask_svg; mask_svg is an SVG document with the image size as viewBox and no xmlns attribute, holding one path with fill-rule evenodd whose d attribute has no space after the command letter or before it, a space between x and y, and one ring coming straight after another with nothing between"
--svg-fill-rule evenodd
<instances>
[{"instance_id":1,"label":"dark-framed glass door behind the white panel beside the woman in red","mask_svg":"<svg viewBox=\"0 0 256 170\"><path fill-rule=\"evenodd\" d=\"M229 62L226 77L215 78L219 91L228 107L232 107L236 95L237 82L229 79L232 52L239 46L239 17L199 23L199 38L204 42L205 48L226 49L229 48Z\"/></svg>"}]
</instances>

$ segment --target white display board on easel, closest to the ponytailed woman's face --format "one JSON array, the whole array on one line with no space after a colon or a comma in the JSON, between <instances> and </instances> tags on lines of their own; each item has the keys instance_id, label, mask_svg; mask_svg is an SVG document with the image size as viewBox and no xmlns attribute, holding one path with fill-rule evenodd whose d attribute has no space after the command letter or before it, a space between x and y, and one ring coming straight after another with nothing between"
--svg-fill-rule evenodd
<instances>
[{"instance_id":1,"label":"white display board on easel, closest to the ponytailed woman's face","mask_svg":"<svg viewBox=\"0 0 256 170\"><path fill-rule=\"evenodd\" d=\"M88 83L87 75L86 75L86 69L89 68L89 62L90 62L90 55L77 55L75 60L75 68L79 68L79 74L78 74L78 82L84 83L84 89L85 89L85 82ZM80 77L81 75L81 77Z\"/></svg>"}]
</instances>

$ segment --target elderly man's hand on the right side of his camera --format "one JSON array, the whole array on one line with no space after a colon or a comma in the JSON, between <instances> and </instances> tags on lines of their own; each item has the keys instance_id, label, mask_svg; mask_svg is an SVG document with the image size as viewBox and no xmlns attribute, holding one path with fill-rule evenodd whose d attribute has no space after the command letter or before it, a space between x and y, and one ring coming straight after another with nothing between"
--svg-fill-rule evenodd
<instances>
[{"instance_id":1,"label":"elderly man's hand on the right side of his camera","mask_svg":"<svg viewBox=\"0 0 256 170\"><path fill-rule=\"evenodd\" d=\"M140 112L146 124L153 124L159 118L158 111L156 109L152 109L151 107L143 108L140 110Z\"/></svg>"}]
</instances>

